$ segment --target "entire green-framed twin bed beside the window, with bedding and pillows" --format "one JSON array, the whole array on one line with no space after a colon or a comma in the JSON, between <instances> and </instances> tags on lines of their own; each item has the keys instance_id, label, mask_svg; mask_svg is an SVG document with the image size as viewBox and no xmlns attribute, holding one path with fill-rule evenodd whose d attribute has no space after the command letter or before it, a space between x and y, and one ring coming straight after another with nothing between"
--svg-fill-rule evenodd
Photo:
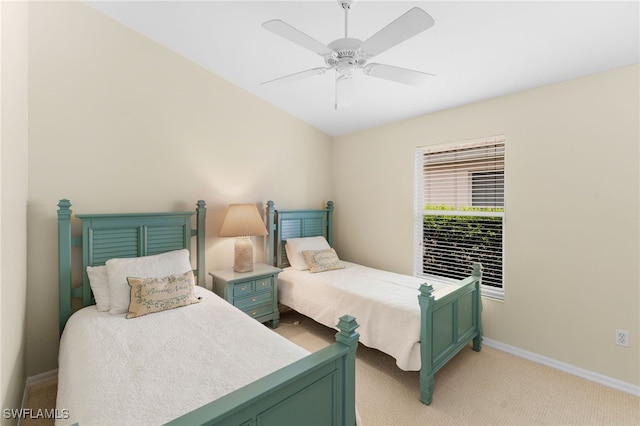
<instances>
[{"instance_id":1,"label":"entire green-framed twin bed beside the window, with bedding and pillows","mask_svg":"<svg viewBox=\"0 0 640 426\"><path fill-rule=\"evenodd\" d=\"M269 201L266 221L267 261L283 268L280 303L328 327L346 309L358 318L364 345L393 356L403 370L420 370L424 404L431 403L434 375L447 361L469 343L480 350L479 263L465 279L431 285L342 261L331 248L331 201L304 210L276 210Z\"/></svg>"}]
</instances>

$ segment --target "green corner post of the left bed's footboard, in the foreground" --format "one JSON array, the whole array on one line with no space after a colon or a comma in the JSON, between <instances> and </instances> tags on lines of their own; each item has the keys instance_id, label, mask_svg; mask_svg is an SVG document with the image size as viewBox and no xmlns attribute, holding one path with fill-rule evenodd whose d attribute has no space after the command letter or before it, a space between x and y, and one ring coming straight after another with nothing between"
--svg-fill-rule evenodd
<instances>
[{"instance_id":1,"label":"green corner post of the left bed's footboard, in the foreground","mask_svg":"<svg viewBox=\"0 0 640 426\"><path fill-rule=\"evenodd\" d=\"M358 348L358 339L360 334L355 330L360 327L356 322L355 317L351 315L343 315L340 317L338 324L336 325L340 331L336 333L336 341L349 346L349 353L346 357L342 358L342 371L344 372L344 389L342 390L344 398L342 400L344 406L343 411L343 425L355 425L356 424L356 349Z\"/></svg>"}]
</instances>

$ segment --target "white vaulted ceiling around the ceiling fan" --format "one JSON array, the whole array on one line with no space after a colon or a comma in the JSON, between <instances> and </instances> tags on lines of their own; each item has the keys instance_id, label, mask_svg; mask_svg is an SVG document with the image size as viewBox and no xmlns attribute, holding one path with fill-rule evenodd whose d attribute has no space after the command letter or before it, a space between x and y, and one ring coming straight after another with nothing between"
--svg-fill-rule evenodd
<instances>
[{"instance_id":1,"label":"white vaulted ceiling around the ceiling fan","mask_svg":"<svg viewBox=\"0 0 640 426\"><path fill-rule=\"evenodd\" d=\"M260 83L324 66L322 57L264 30L281 19L328 44L344 36L344 11L323 1L93 1L115 20L329 135L636 64L638 1L357 1L349 36L366 40L418 6L435 25L375 57L429 72L415 88L359 75L355 102L334 110L334 74L280 86Z\"/></svg>"}]
</instances>

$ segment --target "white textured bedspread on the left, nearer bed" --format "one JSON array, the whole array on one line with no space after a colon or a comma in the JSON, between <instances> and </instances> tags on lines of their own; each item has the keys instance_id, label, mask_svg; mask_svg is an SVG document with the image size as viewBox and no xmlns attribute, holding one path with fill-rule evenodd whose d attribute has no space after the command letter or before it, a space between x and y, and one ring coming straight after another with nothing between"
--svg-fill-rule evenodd
<instances>
[{"instance_id":1,"label":"white textured bedspread on the left, nearer bed","mask_svg":"<svg viewBox=\"0 0 640 426\"><path fill-rule=\"evenodd\" d=\"M76 312L60 342L56 424L158 425L308 354L214 293L169 311Z\"/></svg>"}]
</instances>

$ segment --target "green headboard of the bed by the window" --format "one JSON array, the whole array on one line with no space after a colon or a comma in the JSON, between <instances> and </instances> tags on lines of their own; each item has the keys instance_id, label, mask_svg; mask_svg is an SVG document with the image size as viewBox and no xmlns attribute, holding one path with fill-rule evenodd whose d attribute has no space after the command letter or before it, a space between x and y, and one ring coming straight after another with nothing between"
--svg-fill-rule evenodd
<instances>
[{"instance_id":1,"label":"green headboard of the bed by the window","mask_svg":"<svg viewBox=\"0 0 640 426\"><path fill-rule=\"evenodd\" d=\"M333 201L323 209L276 210L273 201L267 202L267 263L285 268L289 265L284 245L287 238L322 235L333 246Z\"/></svg>"}]
</instances>

